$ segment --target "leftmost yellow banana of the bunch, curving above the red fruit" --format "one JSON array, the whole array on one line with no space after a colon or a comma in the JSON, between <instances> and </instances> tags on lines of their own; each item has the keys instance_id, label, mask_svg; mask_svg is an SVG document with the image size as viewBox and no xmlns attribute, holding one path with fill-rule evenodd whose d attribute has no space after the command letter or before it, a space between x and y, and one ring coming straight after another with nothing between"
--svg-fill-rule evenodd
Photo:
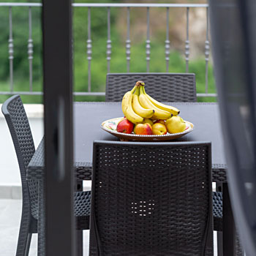
<instances>
[{"instance_id":1,"label":"leftmost yellow banana of the bunch, curving above the red fruit","mask_svg":"<svg viewBox=\"0 0 256 256\"><path fill-rule=\"evenodd\" d=\"M134 124L138 124L143 122L143 117L138 116L134 110L132 109L132 94L135 91L137 86L135 86L132 91L127 91L126 94L124 94L123 100L122 100L122 110L124 113L124 116L131 121Z\"/></svg>"}]
</instances>

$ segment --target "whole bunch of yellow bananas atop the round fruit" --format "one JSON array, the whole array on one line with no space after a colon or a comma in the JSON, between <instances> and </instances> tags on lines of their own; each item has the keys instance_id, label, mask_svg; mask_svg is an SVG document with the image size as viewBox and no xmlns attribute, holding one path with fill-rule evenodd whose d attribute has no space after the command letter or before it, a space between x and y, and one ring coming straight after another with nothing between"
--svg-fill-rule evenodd
<instances>
[{"instance_id":1,"label":"whole bunch of yellow bananas atop the round fruit","mask_svg":"<svg viewBox=\"0 0 256 256\"><path fill-rule=\"evenodd\" d=\"M177 108L162 104L145 91L145 83L138 81L131 91L124 94L122 110L124 116L134 124L142 123L144 118L166 120L180 112Z\"/></svg>"}]
</instances>

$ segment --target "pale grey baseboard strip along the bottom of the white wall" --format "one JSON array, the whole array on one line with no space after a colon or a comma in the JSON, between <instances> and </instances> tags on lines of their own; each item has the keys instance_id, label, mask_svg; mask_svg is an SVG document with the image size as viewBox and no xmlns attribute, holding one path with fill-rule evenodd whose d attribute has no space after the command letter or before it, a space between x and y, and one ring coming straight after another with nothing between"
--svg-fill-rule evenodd
<instances>
[{"instance_id":1,"label":"pale grey baseboard strip along the bottom of the white wall","mask_svg":"<svg viewBox=\"0 0 256 256\"><path fill-rule=\"evenodd\" d=\"M91 181L83 181L83 191L91 190ZM0 184L0 199L21 199L20 184Z\"/></svg>"}]
</instances>

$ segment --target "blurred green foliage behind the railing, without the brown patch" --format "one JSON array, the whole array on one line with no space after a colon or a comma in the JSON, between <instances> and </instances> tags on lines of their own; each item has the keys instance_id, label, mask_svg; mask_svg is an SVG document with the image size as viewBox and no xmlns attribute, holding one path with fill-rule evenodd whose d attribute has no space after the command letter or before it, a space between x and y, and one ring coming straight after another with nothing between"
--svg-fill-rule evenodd
<instances>
[{"instance_id":1,"label":"blurred green foliage behind the railing, without the brown patch","mask_svg":"<svg viewBox=\"0 0 256 256\"><path fill-rule=\"evenodd\" d=\"M35 2L35 1L33 1ZM82 0L76 2L84 2ZM121 1L100 1L121 2ZM42 91L42 31L41 8L32 8L32 38L34 45L33 59L33 90ZM57 14L56 14L57 15ZM86 41L88 39L88 8L75 7L73 11L73 50L74 50L74 91L88 90L88 61ZM105 91L105 76L107 73L106 46L108 39L106 8L91 8L91 91ZM121 12L118 8L111 8L111 41L112 54L110 72L127 72L125 40L118 30L118 21ZM131 18L132 18L131 10ZM131 20L131 24L133 20ZM139 26L139 25L138 25ZM0 8L0 91L10 90L10 67L8 55L9 39L9 9ZM126 30L126 27L124 27ZM12 31L14 43L14 90L29 91L29 10L28 7L12 8ZM146 40L146 32L145 32ZM197 92L205 93L205 69L204 56L189 61L189 72L194 72L197 81ZM186 63L184 53L170 52L169 72L185 72ZM129 72L146 72L146 42L131 43L131 61ZM151 62L150 72L166 72L165 62L165 34L160 32L157 37L151 38ZM208 65L208 92L214 93L213 67ZM9 95L0 95L0 102ZM22 96L24 102L42 102L40 96ZM105 97L75 97L75 100L104 101ZM200 98L198 101L216 101L214 98Z\"/></svg>"}]
</instances>

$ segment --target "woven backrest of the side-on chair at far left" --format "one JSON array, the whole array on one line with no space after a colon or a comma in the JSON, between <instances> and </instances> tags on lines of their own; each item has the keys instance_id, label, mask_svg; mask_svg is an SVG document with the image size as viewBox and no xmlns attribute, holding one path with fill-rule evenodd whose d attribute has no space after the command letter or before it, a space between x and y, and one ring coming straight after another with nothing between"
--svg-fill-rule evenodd
<instances>
[{"instance_id":1,"label":"woven backrest of the side-on chair at far left","mask_svg":"<svg viewBox=\"0 0 256 256\"><path fill-rule=\"evenodd\" d=\"M37 218L37 181L28 182L26 180L26 167L29 165L31 157L34 154L34 140L20 96L15 95L7 99L2 105L1 110L10 129L12 142L15 146L18 158L22 183L23 207L24 205L25 207L27 206L28 211L31 211L32 216Z\"/></svg>"}]
</instances>

